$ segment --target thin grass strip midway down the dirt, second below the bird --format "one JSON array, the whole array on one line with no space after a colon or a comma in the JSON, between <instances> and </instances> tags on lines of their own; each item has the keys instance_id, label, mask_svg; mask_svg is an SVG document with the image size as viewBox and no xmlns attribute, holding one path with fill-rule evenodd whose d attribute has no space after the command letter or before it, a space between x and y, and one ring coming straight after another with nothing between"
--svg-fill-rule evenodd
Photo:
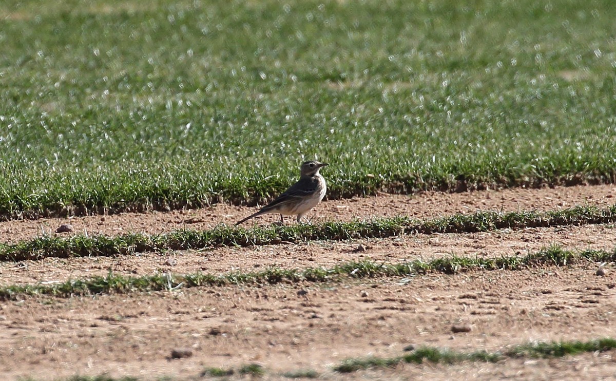
<instances>
[{"instance_id":1,"label":"thin grass strip midway down the dirt, second below the bird","mask_svg":"<svg viewBox=\"0 0 616 381\"><path fill-rule=\"evenodd\" d=\"M267 268L259 272L231 271L225 274L155 274L131 277L113 274L86 279L71 279L59 284L7 285L0 287L0 300L14 300L26 295L52 295L73 297L99 293L131 293L180 288L238 285L238 284L278 284L281 282L342 282L349 278L407 277L428 272L456 274L458 272L481 269L519 270L531 266L566 266L581 261L612 262L616 260L616 249L584 250L572 252L553 245L539 252L525 256L511 255L497 258L471 256L448 256L431 261L409 261L405 263L383 263L372 260L350 261L333 268L283 269Z\"/></svg>"}]
</instances>

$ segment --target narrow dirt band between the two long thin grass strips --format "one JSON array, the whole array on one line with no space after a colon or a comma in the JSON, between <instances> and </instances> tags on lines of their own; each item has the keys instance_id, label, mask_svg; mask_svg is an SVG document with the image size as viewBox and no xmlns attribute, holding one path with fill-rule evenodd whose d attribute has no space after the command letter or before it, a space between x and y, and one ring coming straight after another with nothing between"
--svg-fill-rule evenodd
<instances>
[{"instance_id":1,"label":"narrow dirt band between the two long thin grass strips","mask_svg":"<svg viewBox=\"0 0 616 381\"><path fill-rule=\"evenodd\" d=\"M343 262L368 259L399 263L429 261L451 255L495 258L527 255L553 244L567 250L612 250L616 246L616 229L612 225L603 224L557 229L538 227L519 231L505 229L471 234L411 234L387 239L0 262L0 285L63 282L94 275L105 276L110 270L126 276L161 272L220 274L229 271L260 271L269 267L333 267Z\"/></svg>"}]
</instances>

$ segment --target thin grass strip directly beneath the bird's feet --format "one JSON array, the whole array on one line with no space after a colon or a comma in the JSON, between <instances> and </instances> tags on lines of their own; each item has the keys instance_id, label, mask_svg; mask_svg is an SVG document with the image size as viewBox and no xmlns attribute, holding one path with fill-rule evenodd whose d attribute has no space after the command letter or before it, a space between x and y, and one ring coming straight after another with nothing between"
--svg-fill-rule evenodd
<instances>
[{"instance_id":1,"label":"thin grass strip directly beneath the bird's feet","mask_svg":"<svg viewBox=\"0 0 616 381\"><path fill-rule=\"evenodd\" d=\"M250 246L306 240L346 240L362 237L392 237L400 234L479 232L503 228L519 229L614 222L616 222L616 205L607 208L574 207L546 212L477 211L428 220L400 216L373 221L329 222L318 225L297 224L249 229L219 226L206 231L177 230L155 235L131 233L115 237L77 235L70 238L43 236L17 244L0 244L0 261L39 260L47 257L113 256L225 245Z\"/></svg>"}]
</instances>

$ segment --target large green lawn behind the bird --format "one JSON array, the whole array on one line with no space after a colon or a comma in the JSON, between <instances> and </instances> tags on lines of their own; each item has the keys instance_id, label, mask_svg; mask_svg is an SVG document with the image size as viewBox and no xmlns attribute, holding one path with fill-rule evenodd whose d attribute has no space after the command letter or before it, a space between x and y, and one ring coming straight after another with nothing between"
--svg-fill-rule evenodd
<instances>
[{"instance_id":1,"label":"large green lawn behind the bird","mask_svg":"<svg viewBox=\"0 0 616 381\"><path fill-rule=\"evenodd\" d=\"M0 216L614 182L615 10L3 1Z\"/></svg>"}]
</instances>

